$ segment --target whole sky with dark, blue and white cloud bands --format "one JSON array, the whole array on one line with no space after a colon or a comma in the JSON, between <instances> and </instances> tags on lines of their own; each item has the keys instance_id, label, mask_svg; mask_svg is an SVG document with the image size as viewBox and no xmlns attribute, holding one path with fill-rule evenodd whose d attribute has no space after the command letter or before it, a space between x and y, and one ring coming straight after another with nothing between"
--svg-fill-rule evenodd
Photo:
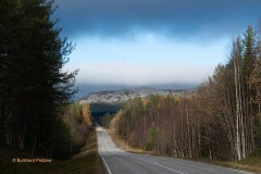
<instances>
[{"instance_id":1,"label":"whole sky with dark, blue and white cloud bands","mask_svg":"<svg viewBox=\"0 0 261 174\"><path fill-rule=\"evenodd\" d=\"M233 38L258 27L260 0L55 0L76 45L77 97L133 87L194 88L227 61Z\"/></svg>"}]
</instances>

